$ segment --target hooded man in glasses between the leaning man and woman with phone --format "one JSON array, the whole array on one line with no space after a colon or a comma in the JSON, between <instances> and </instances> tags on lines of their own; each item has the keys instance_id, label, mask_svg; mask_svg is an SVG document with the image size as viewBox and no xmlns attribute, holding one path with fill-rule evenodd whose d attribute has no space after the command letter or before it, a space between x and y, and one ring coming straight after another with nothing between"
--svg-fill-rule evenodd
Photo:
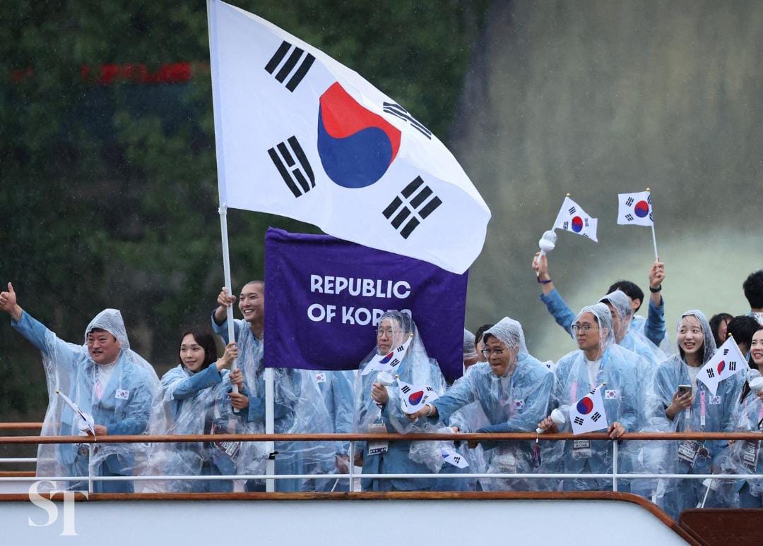
<instances>
[{"instance_id":1,"label":"hooded man in glasses between the leaning man and woman with phone","mask_svg":"<svg viewBox=\"0 0 763 546\"><path fill-rule=\"evenodd\" d=\"M552 406L563 412L602 383L604 409L610 423L607 432L617 439L639 425L639 357L615 343L612 315L607 305L597 303L581 309L571 325L578 350L562 356L556 365ZM550 417L539 428L556 432ZM562 432L571 431L569 419ZM576 440L562 442L543 450L543 468L562 468L565 474L601 474L612 471L612 442ZM565 490L611 490L612 481L565 479Z\"/></svg>"}]
</instances>

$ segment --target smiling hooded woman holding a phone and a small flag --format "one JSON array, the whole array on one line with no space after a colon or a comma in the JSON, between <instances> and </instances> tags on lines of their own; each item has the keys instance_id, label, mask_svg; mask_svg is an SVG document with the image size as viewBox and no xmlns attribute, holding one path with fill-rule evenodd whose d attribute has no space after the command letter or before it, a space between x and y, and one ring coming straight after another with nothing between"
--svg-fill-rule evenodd
<instances>
[{"instance_id":1,"label":"smiling hooded woman holding a phone and a small flag","mask_svg":"<svg viewBox=\"0 0 763 546\"><path fill-rule=\"evenodd\" d=\"M732 413L739 398L743 374L718 384L713 396L697 375L716 352L713 331L702 311L686 311L678 321L678 355L662 362L652 382L655 421L668 432L729 432ZM679 385L689 385L679 391ZM670 474L710 474L711 461L720 455L726 441L660 442L662 471ZM668 480L660 504L668 514L678 517L684 508L694 508L702 500L705 487L699 480Z\"/></svg>"}]
</instances>

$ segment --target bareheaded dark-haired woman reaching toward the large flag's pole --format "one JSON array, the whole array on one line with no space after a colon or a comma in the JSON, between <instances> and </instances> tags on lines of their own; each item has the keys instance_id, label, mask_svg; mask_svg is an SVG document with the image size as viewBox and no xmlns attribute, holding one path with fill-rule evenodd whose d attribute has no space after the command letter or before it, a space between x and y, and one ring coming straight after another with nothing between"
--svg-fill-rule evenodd
<instances>
[{"instance_id":1,"label":"bareheaded dark-haired woman reaching toward the large flag's pole","mask_svg":"<svg viewBox=\"0 0 763 546\"><path fill-rule=\"evenodd\" d=\"M155 434L214 434L237 430L231 412L228 369L238 355L234 343L217 360L214 338L198 330L181 336L180 363L163 375L151 423ZM236 473L238 442L162 443L153 445L151 466L167 475L220 476ZM233 490L230 481L175 481L172 492L221 493Z\"/></svg>"}]
</instances>

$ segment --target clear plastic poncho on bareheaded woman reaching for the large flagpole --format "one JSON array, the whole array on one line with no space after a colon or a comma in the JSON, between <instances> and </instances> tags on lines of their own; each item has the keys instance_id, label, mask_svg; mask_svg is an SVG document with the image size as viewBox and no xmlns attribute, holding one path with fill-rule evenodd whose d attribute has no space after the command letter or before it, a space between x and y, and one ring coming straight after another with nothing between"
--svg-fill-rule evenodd
<instances>
[{"instance_id":1,"label":"clear plastic poncho on bareheaded woman reaching for the large flagpole","mask_svg":"<svg viewBox=\"0 0 763 546\"><path fill-rule=\"evenodd\" d=\"M159 396L153 406L152 434L227 434L240 429L234 417L228 391L228 370L219 374L221 381L195 385L194 379L210 375L208 368L191 372L179 365L163 375ZM240 442L182 442L154 444L150 450L152 474L188 475L236 474ZM204 469L208 469L204 471ZM214 469L214 470L213 470ZM230 482L169 481L150 482L151 489L173 493L232 490Z\"/></svg>"}]
</instances>

